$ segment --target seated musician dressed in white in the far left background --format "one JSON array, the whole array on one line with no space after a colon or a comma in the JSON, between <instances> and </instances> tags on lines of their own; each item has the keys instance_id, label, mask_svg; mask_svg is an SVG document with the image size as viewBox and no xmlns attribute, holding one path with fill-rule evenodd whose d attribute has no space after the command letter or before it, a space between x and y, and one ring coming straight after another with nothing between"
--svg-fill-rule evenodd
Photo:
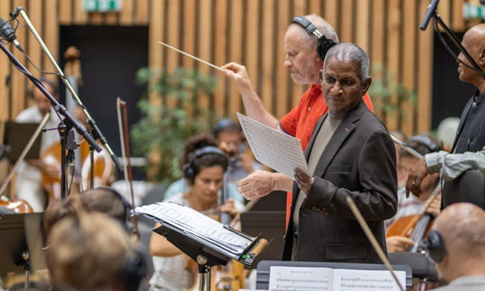
<instances>
[{"instance_id":1,"label":"seated musician dressed in white in the far left background","mask_svg":"<svg viewBox=\"0 0 485 291\"><path fill-rule=\"evenodd\" d=\"M41 78L42 85L55 98L58 98L58 87L48 79ZM34 105L24 109L15 118L18 123L40 123L47 112L51 112L51 118L46 123L46 128L57 128L60 119L55 114L51 103L37 87L29 90L29 96L33 99ZM60 137L57 130L48 130L40 136L40 152L42 154L55 143L59 143ZM46 195L42 188L42 173L50 176L60 176L60 165L55 166L41 159L31 159L21 164L17 170L15 192L17 197L26 200L35 212L44 211L46 208Z\"/></svg>"}]
</instances>

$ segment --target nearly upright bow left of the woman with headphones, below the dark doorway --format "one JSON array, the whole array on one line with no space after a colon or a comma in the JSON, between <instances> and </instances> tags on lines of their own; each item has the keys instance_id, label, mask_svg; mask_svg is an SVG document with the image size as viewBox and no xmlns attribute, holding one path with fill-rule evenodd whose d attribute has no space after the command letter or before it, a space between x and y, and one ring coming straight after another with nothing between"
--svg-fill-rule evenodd
<instances>
[{"instance_id":1,"label":"nearly upright bow left of the woman with headphones, below the dark doorway","mask_svg":"<svg viewBox=\"0 0 485 291\"><path fill-rule=\"evenodd\" d=\"M121 110L123 109L123 121L121 116ZM123 173L125 175L125 181L127 183L127 188L130 189L130 194L132 197L132 209L134 209L134 192L133 192L133 175L132 175L132 164L130 161L130 134L128 132L128 112L126 107L126 102L121 100L121 98L116 98L116 111L118 112L118 127L120 131L120 143L121 143L121 155L123 157ZM140 238L140 233L138 231L138 219L136 215L132 215L134 235L136 238Z\"/></svg>"}]
</instances>

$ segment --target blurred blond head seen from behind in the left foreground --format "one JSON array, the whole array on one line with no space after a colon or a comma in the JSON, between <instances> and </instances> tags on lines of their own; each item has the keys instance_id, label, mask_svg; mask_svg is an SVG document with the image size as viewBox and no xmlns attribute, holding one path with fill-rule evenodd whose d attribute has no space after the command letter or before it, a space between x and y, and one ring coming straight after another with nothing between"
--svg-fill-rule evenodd
<instances>
[{"instance_id":1,"label":"blurred blond head seen from behind in the left foreground","mask_svg":"<svg viewBox=\"0 0 485 291\"><path fill-rule=\"evenodd\" d=\"M80 211L55 223L46 265L59 291L136 291L146 276L127 233L103 213Z\"/></svg>"}]
</instances>

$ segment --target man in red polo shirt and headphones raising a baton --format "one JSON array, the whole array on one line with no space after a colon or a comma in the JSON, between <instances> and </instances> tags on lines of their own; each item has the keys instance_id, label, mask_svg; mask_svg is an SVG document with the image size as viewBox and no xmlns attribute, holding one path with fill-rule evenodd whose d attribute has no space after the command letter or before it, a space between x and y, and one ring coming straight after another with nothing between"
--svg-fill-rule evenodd
<instances>
[{"instance_id":1,"label":"man in red polo shirt and headphones raising a baton","mask_svg":"<svg viewBox=\"0 0 485 291\"><path fill-rule=\"evenodd\" d=\"M222 67L226 76L236 82L236 88L243 97L247 116L270 127L286 132L301 141L306 150L310 135L317 120L328 112L328 107L321 94L319 71L323 67L328 49L339 42L335 30L323 18L313 14L297 16L292 19L283 39L285 50L284 65L297 84L310 85L301 96L299 105L278 121L265 109L261 99L254 91L246 68L235 62ZM269 55L266 58L270 58ZM275 72L276 73L276 72ZM286 86L286 79L279 80L276 87ZM275 88L276 89L276 88ZM369 94L364 96L367 107L373 110ZM288 191L287 206L291 202L292 179L279 173L256 170L239 184L239 191L252 200L275 190ZM287 213L289 213L287 211Z\"/></svg>"}]
</instances>

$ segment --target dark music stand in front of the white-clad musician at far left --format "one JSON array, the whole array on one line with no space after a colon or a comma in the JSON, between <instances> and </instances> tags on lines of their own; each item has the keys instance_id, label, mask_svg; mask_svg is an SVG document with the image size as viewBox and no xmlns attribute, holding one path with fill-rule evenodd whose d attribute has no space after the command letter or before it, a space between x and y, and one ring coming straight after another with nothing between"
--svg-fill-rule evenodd
<instances>
[{"instance_id":1,"label":"dark music stand in front of the white-clad musician at far left","mask_svg":"<svg viewBox=\"0 0 485 291\"><path fill-rule=\"evenodd\" d=\"M3 144L9 145L6 157L11 164L15 164L24 150L28 140L33 136L39 123L15 123L8 121L5 123L5 137ZM39 159L40 139L34 142L32 148L27 153L25 159Z\"/></svg>"}]
</instances>

